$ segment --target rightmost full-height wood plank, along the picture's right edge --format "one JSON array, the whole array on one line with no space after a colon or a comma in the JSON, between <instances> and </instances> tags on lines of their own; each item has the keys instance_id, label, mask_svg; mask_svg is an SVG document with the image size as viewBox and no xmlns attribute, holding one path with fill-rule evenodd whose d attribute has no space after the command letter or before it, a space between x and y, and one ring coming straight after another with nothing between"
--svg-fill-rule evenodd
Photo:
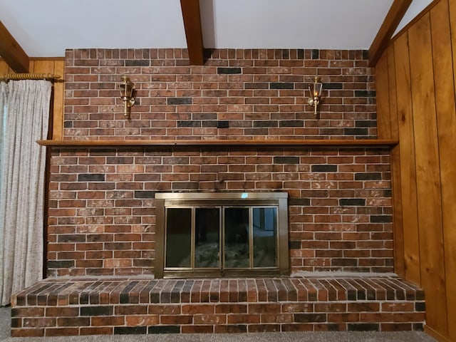
<instances>
[{"instance_id":1,"label":"rightmost full-height wood plank, along the picture's right edge","mask_svg":"<svg viewBox=\"0 0 456 342\"><path fill-rule=\"evenodd\" d=\"M455 1L452 3L454 10ZM456 103L453 70L456 56L452 54L456 36L451 35L449 13L448 2L440 1L430 12L430 19L445 244L448 337L451 341L456 341L456 325L452 323L456 319ZM454 20L455 13L452 14ZM452 25L456 25L456 22Z\"/></svg>"}]
</instances>

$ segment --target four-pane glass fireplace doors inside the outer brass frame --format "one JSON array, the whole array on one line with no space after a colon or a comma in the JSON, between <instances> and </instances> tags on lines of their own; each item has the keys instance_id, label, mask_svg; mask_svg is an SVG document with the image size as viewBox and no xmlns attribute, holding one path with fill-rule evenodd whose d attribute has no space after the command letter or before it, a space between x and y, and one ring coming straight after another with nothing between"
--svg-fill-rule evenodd
<instances>
[{"instance_id":1,"label":"four-pane glass fireplace doors inside the outer brass frame","mask_svg":"<svg viewBox=\"0 0 456 342\"><path fill-rule=\"evenodd\" d=\"M165 269L277 267L277 207L168 207L165 217Z\"/></svg>"}]
</instances>

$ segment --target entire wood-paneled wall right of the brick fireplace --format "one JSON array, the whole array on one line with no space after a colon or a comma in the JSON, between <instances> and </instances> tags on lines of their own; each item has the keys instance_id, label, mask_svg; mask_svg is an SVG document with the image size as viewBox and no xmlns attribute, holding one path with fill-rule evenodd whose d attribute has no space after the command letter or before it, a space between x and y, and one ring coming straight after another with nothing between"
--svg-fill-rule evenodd
<instances>
[{"instance_id":1,"label":"entire wood-paneled wall right of the brick fireplace","mask_svg":"<svg viewBox=\"0 0 456 342\"><path fill-rule=\"evenodd\" d=\"M425 289L426 329L456 341L456 0L434 1L376 66L393 150L395 270Z\"/></svg>"}]
</instances>

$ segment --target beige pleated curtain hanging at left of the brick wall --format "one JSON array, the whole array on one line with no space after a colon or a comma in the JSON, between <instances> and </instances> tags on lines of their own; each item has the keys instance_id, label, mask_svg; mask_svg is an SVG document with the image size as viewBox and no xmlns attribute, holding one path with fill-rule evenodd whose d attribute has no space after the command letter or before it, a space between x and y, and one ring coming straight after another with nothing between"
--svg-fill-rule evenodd
<instances>
[{"instance_id":1,"label":"beige pleated curtain hanging at left of the brick wall","mask_svg":"<svg viewBox=\"0 0 456 342\"><path fill-rule=\"evenodd\" d=\"M0 83L0 299L43 279L43 197L51 82Z\"/></svg>"}]
</instances>

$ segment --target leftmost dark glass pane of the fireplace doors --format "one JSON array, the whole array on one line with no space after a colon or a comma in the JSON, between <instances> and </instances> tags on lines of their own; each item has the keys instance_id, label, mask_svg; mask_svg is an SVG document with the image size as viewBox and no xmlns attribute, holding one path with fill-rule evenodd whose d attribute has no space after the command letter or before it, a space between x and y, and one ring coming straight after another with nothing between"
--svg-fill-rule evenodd
<instances>
[{"instance_id":1,"label":"leftmost dark glass pane of the fireplace doors","mask_svg":"<svg viewBox=\"0 0 456 342\"><path fill-rule=\"evenodd\" d=\"M192 209L169 208L166 224L166 266L190 267Z\"/></svg>"}]
</instances>

